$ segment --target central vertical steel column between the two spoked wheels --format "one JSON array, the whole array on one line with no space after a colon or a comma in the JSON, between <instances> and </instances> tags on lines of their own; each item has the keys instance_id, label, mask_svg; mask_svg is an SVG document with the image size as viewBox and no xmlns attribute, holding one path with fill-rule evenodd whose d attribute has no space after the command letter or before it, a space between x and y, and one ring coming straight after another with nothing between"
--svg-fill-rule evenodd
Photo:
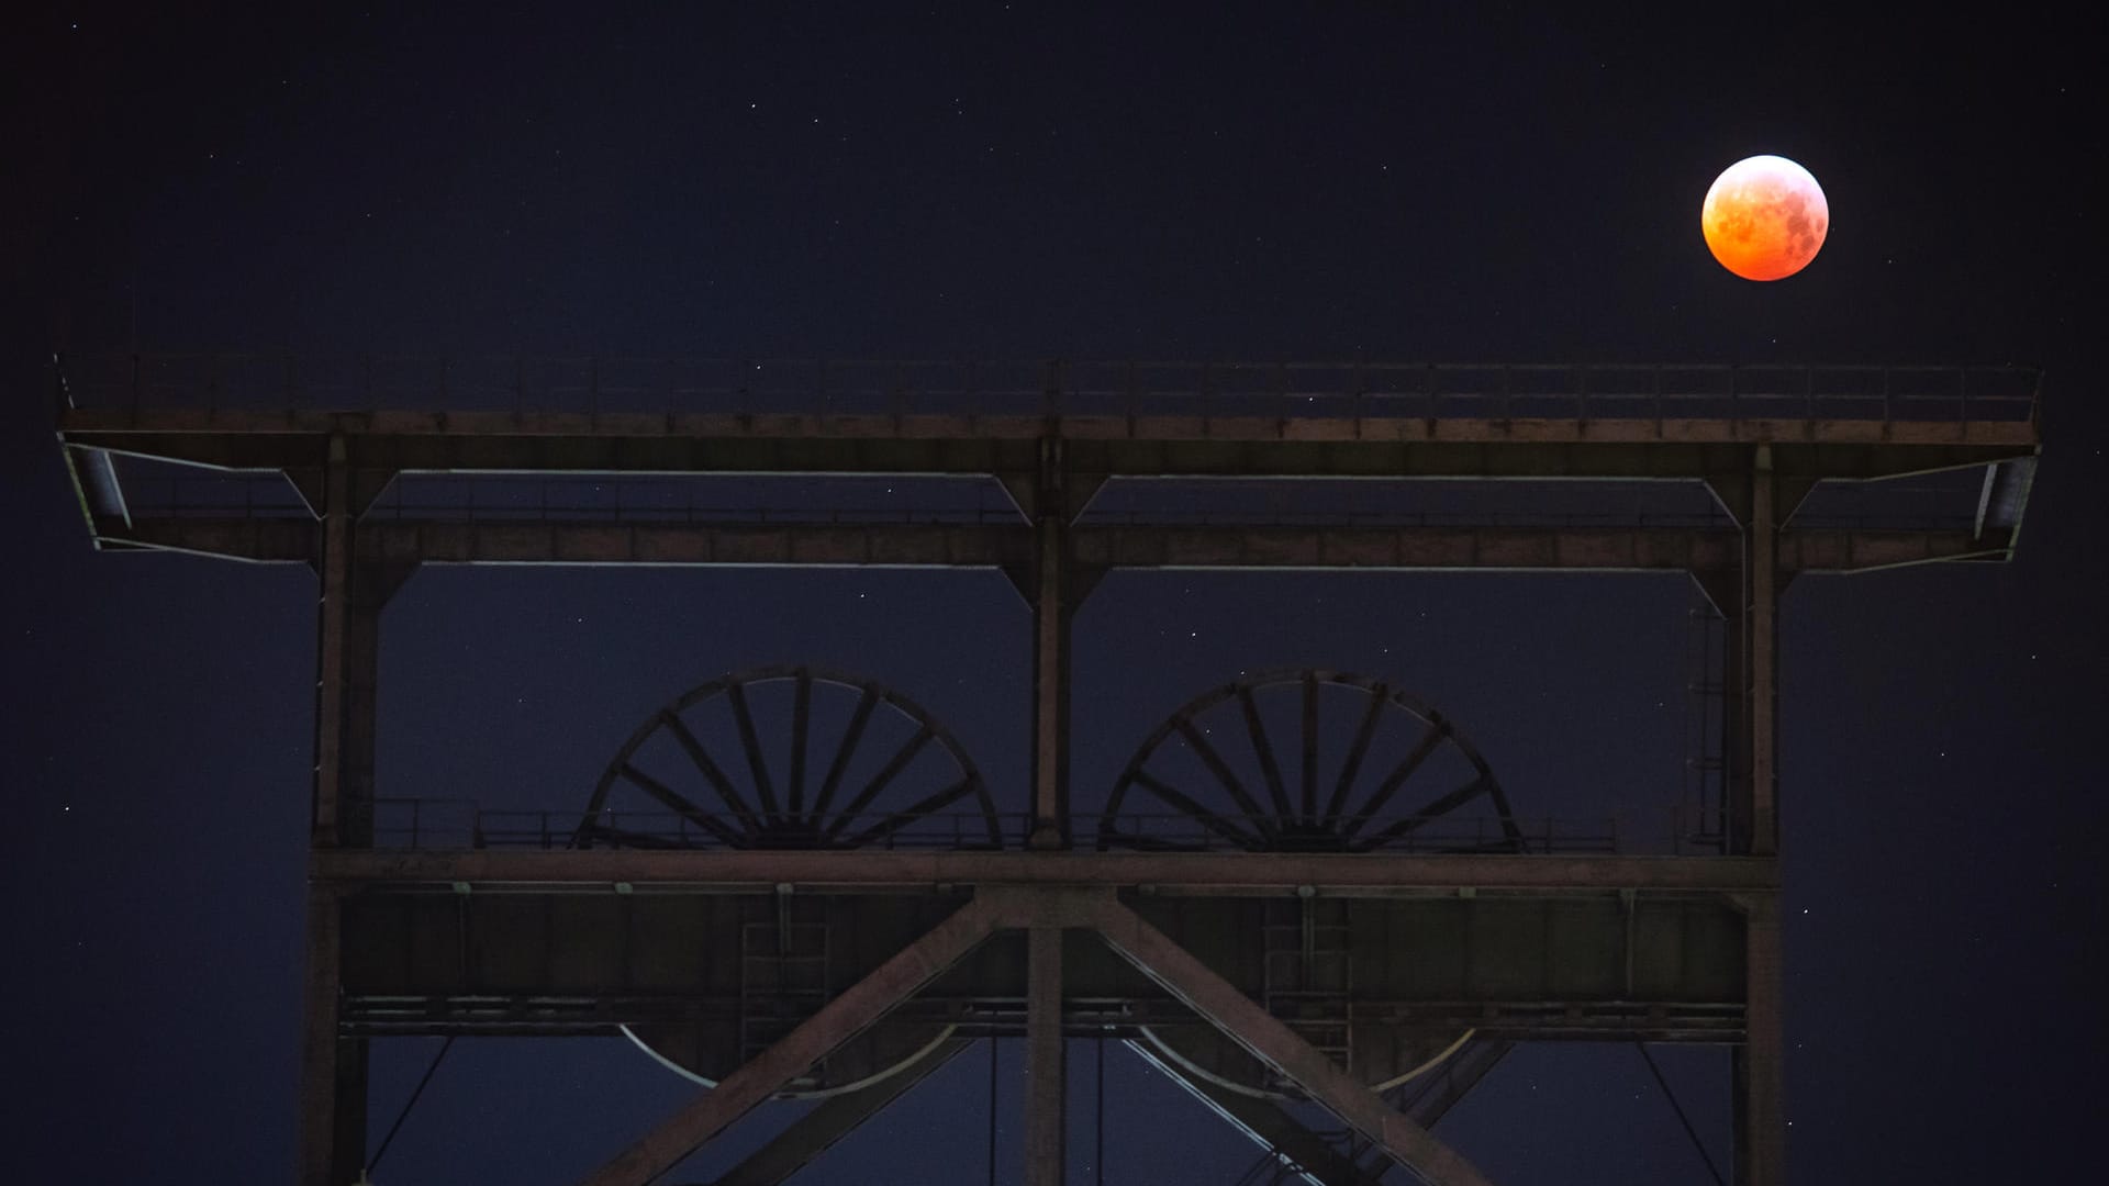
<instances>
[{"instance_id":1,"label":"central vertical steel column between the two spoked wheels","mask_svg":"<svg viewBox=\"0 0 2109 1186\"><path fill-rule=\"evenodd\" d=\"M1061 437L1040 439L1033 492L1033 827L1031 848L1069 846L1069 492Z\"/></svg>"}]
</instances>

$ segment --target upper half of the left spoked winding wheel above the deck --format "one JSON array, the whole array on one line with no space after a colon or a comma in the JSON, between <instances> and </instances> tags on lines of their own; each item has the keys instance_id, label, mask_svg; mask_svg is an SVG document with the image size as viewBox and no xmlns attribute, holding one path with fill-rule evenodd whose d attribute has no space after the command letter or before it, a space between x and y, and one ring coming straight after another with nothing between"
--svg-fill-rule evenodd
<instances>
[{"instance_id":1,"label":"upper half of the left spoked winding wheel above the deck","mask_svg":"<svg viewBox=\"0 0 2109 1186\"><path fill-rule=\"evenodd\" d=\"M738 671L656 711L607 764L574 838L580 848L1002 842L989 787L945 726L898 692L812 667Z\"/></svg>"}]
</instances>

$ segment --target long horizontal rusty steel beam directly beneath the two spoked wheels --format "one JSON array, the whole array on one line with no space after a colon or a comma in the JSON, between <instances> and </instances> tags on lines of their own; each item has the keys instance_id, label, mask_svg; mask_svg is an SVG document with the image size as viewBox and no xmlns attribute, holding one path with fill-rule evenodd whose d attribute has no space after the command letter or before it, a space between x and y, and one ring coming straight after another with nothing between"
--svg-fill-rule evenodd
<instances>
[{"instance_id":1,"label":"long horizontal rusty steel beam directly beneath the two spoked wheels","mask_svg":"<svg viewBox=\"0 0 2109 1186\"><path fill-rule=\"evenodd\" d=\"M1118 886L1143 893L1327 895L1413 891L1689 891L1780 888L1761 857L1535 857L1337 853L945 853L945 850L316 850L316 882L375 888L508 886L605 893L618 884L901 888Z\"/></svg>"}]
</instances>

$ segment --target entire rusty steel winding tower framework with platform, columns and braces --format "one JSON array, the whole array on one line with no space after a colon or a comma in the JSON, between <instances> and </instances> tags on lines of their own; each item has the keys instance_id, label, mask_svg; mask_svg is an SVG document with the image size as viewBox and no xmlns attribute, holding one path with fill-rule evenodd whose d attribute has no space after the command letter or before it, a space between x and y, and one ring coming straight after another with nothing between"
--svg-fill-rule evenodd
<instances>
[{"instance_id":1,"label":"entire rusty steel winding tower framework with platform, columns and braces","mask_svg":"<svg viewBox=\"0 0 2109 1186\"><path fill-rule=\"evenodd\" d=\"M597 1186L823 1097L719 1180L780 1182L991 1036L1025 1038L1025 1180L1054 1186L1073 1032L1320 1186L1485 1182L1430 1129L1516 1042L1727 1045L1734 1180L1776 1186L1780 593L2006 559L2039 447L2037 376L2006 367L198 355L67 361L57 395L99 549L321 576L308 1186L365 1169L373 1040L618 1032L707 1087ZM785 502L785 477L844 494ZM909 477L1002 502L871 513L846 485ZM1238 500L1341 479L1508 494ZM1620 483L1710 498L1586 494ZM441 823L373 772L380 614L434 563L1002 570L1031 612L1029 783L987 785L877 682L782 667L669 703L582 806ZM1111 568L1687 572L1723 623L1713 791L1668 848L1533 829L1388 673L1278 671L1177 709L1080 821L1069 635Z\"/></svg>"}]
</instances>

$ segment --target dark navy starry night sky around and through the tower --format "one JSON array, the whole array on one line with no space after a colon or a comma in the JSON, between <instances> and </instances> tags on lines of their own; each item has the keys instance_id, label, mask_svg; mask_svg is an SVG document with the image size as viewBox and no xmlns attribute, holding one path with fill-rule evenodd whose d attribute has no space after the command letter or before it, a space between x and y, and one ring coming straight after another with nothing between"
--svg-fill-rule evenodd
<instances>
[{"instance_id":1,"label":"dark navy starry night sky around and through the tower","mask_svg":"<svg viewBox=\"0 0 2109 1186\"><path fill-rule=\"evenodd\" d=\"M2098 27L2029 4L167 8L40 6L0 42L0 1175L272 1182L295 1137L314 578L95 555L55 346L2042 365L2014 563L1784 599L1786 1104L1797 1184L2079 1173L2109 1053L2084 975L2109 840ZM1833 217L1769 285L1698 228L1759 152ZM1675 802L1689 606L1681 576L1116 574L1078 618L1078 804L1179 703L1278 665L1415 690L1518 810ZM915 696L1021 810L1027 625L993 572L420 572L384 618L382 793L574 808L677 692L806 661ZM434 1047L375 1045L375 1140ZM1251 1165L1105 1057L1105 1182ZM1658 1057L1725 1163L1725 1055ZM970 1051L797 1182L987 1182L987 1074ZM1088 1045L1071 1085L1084 1184ZM375 1180L569 1182L688 1091L622 1040L458 1042ZM1438 1135L1504 1184L1708 1180L1630 1047L1512 1055Z\"/></svg>"}]
</instances>

